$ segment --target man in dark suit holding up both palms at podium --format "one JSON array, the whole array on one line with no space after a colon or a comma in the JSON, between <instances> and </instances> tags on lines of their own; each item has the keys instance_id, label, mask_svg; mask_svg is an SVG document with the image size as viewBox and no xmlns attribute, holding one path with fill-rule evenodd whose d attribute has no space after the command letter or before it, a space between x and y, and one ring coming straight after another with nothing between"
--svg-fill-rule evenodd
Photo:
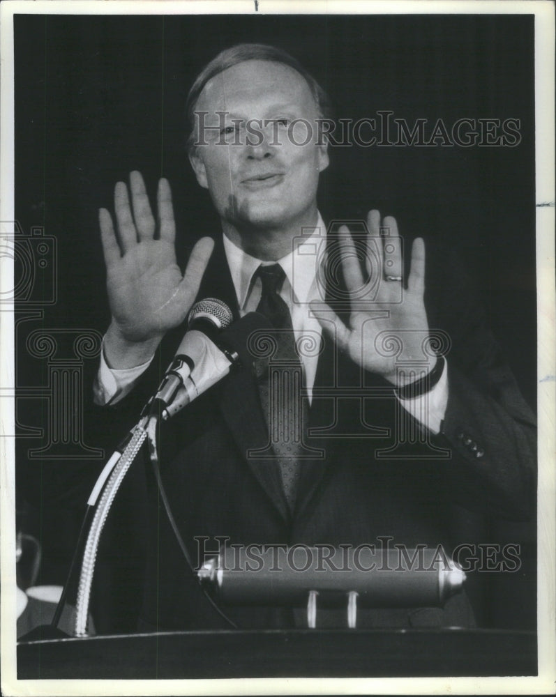
<instances>
[{"instance_id":1,"label":"man in dark suit holding up both palms at podium","mask_svg":"<svg viewBox=\"0 0 556 697\"><path fill-rule=\"evenodd\" d=\"M200 73L188 114L190 162L222 235L199 240L182 274L167 181L158 186L158 221L138 172L130 195L116 185L115 224L100 210L112 322L95 384L98 422L116 438L137 420L196 298L220 298L234 319L265 314L278 330L278 358L302 382L294 401L273 411L271 362L255 361L162 427L163 482L190 555L202 562L198 541L207 537L334 546L388 537L449 552L454 504L527 517L534 420L460 268L427 250L425 287L423 240L403 259L396 220L377 210L359 231L326 231L316 201L329 164L320 86L284 52L241 45ZM448 338L435 353L437 337ZM447 358L437 355L447 348ZM291 422L292 413L301 416ZM302 437L287 451L296 429ZM225 626L158 510L153 481L149 491L141 626ZM302 624L290 608L226 613L241 627ZM321 617L345 626L345 613ZM359 624L473 622L458 595L444 608L366 611Z\"/></svg>"}]
</instances>

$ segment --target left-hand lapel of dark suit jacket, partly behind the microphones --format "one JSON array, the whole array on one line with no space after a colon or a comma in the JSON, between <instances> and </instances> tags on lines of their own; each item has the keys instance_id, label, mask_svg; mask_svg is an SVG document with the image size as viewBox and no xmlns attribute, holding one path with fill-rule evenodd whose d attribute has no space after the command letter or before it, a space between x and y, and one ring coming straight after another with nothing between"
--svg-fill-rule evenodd
<instances>
[{"instance_id":1,"label":"left-hand lapel of dark suit jacket, partly behind the microphones","mask_svg":"<svg viewBox=\"0 0 556 697\"><path fill-rule=\"evenodd\" d=\"M232 310L234 321L239 319L236 291L221 237L216 240L200 287L198 298L206 297L223 300ZM243 460L274 507L284 519L288 519L290 510L276 463L272 459L249 457L250 450L260 450L269 443L259 391L250 367L240 367L232 371L225 380L216 385L214 395Z\"/></svg>"}]
</instances>

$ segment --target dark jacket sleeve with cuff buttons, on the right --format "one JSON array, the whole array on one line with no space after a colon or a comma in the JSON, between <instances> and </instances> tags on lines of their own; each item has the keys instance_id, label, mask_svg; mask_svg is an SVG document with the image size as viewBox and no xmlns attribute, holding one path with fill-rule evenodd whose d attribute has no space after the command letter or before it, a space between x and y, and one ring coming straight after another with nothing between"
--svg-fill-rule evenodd
<instances>
[{"instance_id":1,"label":"dark jacket sleeve with cuff buttons, on the right","mask_svg":"<svg viewBox=\"0 0 556 697\"><path fill-rule=\"evenodd\" d=\"M449 399L435 437L451 450L449 491L469 509L528 519L536 491L534 415L463 264L452 255L441 268L426 301L436 308L430 326L446 329L451 339Z\"/></svg>"}]
</instances>

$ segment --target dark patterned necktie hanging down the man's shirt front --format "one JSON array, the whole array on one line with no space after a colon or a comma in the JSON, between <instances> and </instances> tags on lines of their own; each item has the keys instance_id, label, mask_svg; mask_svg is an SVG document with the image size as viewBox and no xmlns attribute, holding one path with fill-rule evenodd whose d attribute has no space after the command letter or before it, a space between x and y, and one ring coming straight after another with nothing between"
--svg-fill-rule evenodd
<instances>
[{"instance_id":1,"label":"dark patterned necktie hanging down the man's shirt front","mask_svg":"<svg viewBox=\"0 0 556 697\"><path fill-rule=\"evenodd\" d=\"M284 283L284 270L276 263L260 266L256 275L262 282L257 312L264 314L276 330L272 332L276 351L269 362L269 369L259 371L259 394L284 492L290 508L293 508L299 479L298 456L302 449L303 369L295 348L290 310L278 294Z\"/></svg>"}]
</instances>

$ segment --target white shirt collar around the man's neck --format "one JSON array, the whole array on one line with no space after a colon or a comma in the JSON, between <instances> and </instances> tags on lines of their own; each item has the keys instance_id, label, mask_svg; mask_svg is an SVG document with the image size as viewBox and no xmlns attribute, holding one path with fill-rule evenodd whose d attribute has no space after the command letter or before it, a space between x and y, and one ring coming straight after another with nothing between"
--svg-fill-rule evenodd
<instances>
[{"instance_id":1,"label":"white shirt collar around the man's neck","mask_svg":"<svg viewBox=\"0 0 556 697\"><path fill-rule=\"evenodd\" d=\"M309 299L317 273L317 250L325 237L326 227L324 227L324 221L319 213L316 226L304 229L303 236L296 238L292 252L276 261L283 268L287 280L290 282L296 302L307 302ZM243 309L248 300L253 274L257 268L261 264L270 266L275 262L257 259L255 256L243 252L240 247L235 245L225 235L223 238L224 250L228 266L230 267L236 298L239 307Z\"/></svg>"}]
</instances>

